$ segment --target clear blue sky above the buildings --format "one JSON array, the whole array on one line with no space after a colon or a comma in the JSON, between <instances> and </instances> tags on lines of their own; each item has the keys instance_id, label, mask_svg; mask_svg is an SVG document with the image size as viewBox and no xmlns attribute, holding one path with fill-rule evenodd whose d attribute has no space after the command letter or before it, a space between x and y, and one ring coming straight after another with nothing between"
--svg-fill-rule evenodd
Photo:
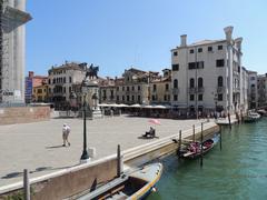
<instances>
[{"instance_id":1,"label":"clear blue sky above the buildings","mask_svg":"<svg viewBox=\"0 0 267 200\"><path fill-rule=\"evenodd\" d=\"M65 60L95 63L100 76L170 67L180 34L188 43L243 37L243 66L267 72L266 0L28 0L27 71L47 74Z\"/></svg>"}]
</instances>

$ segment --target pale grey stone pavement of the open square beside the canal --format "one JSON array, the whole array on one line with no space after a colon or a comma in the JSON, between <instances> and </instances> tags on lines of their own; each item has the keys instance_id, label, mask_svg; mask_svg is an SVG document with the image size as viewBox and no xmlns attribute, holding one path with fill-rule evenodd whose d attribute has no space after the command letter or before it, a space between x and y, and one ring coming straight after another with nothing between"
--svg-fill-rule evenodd
<instances>
[{"instance_id":1,"label":"pale grey stone pavement of the open square beside the canal","mask_svg":"<svg viewBox=\"0 0 267 200\"><path fill-rule=\"evenodd\" d=\"M149 130L148 118L113 117L87 120L88 147L97 150L96 159L137 147L157 139L139 139ZM188 130L201 120L159 119L159 138ZM62 124L71 127L70 147L62 147ZM0 187L22 180L23 169L30 178L79 164L82 152L82 120L50 119L49 121L0 126Z\"/></svg>"}]
</instances>

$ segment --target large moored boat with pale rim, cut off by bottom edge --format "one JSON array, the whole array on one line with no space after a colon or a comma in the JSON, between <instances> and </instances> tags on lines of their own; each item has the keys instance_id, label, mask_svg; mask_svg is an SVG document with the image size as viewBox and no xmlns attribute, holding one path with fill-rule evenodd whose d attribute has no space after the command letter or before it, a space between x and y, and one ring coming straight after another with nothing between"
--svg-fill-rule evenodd
<instances>
[{"instance_id":1,"label":"large moored boat with pale rim, cut off by bottom edge","mask_svg":"<svg viewBox=\"0 0 267 200\"><path fill-rule=\"evenodd\" d=\"M90 193L79 198L79 200L89 199L142 199L155 189L162 173L161 163L151 163L142 168L138 168L129 174L110 181L107 184L99 187Z\"/></svg>"}]
</instances>

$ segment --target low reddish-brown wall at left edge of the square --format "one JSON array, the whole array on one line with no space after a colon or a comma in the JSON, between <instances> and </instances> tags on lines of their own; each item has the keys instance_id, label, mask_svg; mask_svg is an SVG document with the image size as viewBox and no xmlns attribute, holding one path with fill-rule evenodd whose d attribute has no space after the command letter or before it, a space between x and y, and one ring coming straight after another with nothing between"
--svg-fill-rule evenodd
<instances>
[{"instance_id":1,"label":"low reddish-brown wall at left edge of the square","mask_svg":"<svg viewBox=\"0 0 267 200\"><path fill-rule=\"evenodd\" d=\"M13 123L29 123L49 119L49 106L0 108L0 126Z\"/></svg>"}]
</instances>

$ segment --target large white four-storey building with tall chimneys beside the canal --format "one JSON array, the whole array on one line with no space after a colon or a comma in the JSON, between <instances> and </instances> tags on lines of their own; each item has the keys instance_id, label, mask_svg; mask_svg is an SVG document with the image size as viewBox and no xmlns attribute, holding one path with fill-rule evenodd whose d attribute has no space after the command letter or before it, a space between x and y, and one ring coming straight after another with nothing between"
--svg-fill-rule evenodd
<instances>
[{"instance_id":1,"label":"large white four-storey building with tall chimneys beside the canal","mask_svg":"<svg viewBox=\"0 0 267 200\"><path fill-rule=\"evenodd\" d=\"M180 37L180 46L171 50L172 98L177 110L197 112L244 110L244 80L241 68L243 38L233 38L233 27L224 29L226 38L202 40L187 44L187 36Z\"/></svg>"}]
</instances>

